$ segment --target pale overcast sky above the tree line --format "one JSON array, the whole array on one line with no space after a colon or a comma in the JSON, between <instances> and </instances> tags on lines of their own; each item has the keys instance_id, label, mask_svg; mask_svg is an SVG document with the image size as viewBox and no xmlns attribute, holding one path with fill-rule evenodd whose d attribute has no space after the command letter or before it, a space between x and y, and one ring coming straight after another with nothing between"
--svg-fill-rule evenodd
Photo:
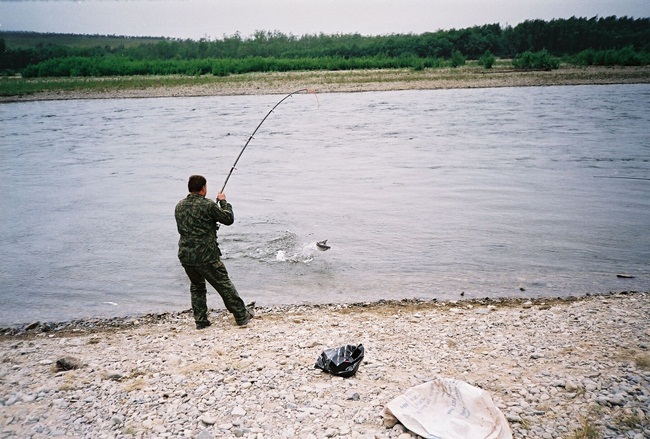
<instances>
[{"instance_id":1,"label":"pale overcast sky above the tree line","mask_svg":"<svg viewBox=\"0 0 650 439\"><path fill-rule=\"evenodd\" d=\"M223 38L386 35L527 19L650 17L650 0L0 0L0 30Z\"/></svg>"}]
</instances>

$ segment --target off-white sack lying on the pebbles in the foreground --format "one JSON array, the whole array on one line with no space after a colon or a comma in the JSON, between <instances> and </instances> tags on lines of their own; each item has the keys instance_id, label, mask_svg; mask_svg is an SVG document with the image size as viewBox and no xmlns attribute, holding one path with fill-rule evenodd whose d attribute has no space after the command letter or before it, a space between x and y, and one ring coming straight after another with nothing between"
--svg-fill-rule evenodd
<instances>
[{"instance_id":1,"label":"off-white sack lying on the pebbles in the foreground","mask_svg":"<svg viewBox=\"0 0 650 439\"><path fill-rule=\"evenodd\" d=\"M411 387L386 404L382 415L428 439L512 439L489 393L451 378Z\"/></svg>"}]
</instances>

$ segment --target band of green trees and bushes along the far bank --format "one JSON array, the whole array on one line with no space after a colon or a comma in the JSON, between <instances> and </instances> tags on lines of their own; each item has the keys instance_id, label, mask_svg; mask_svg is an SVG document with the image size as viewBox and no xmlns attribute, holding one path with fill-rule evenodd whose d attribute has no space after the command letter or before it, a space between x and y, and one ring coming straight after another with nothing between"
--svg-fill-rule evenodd
<instances>
[{"instance_id":1,"label":"band of green trees and bushes along the far bank","mask_svg":"<svg viewBox=\"0 0 650 439\"><path fill-rule=\"evenodd\" d=\"M457 67L516 69L650 64L650 18L527 20L423 34L287 35L221 39L0 32L0 74L32 77L216 75L294 70Z\"/></svg>"}]
</instances>

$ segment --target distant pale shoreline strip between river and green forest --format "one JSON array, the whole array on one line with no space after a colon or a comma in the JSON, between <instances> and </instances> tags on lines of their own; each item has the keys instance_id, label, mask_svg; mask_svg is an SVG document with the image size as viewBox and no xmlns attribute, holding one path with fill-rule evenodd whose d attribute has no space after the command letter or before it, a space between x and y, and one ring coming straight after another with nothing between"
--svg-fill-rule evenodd
<instances>
[{"instance_id":1,"label":"distant pale shoreline strip between river and green forest","mask_svg":"<svg viewBox=\"0 0 650 439\"><path fill-rule=\"evenodd\" d=\"M3 79L11 81L13 79ZM21 81L28 81L22 80ZM309 88L317 93L396 90L535 87L650 83L650 66L569 67L551 71L514 71L477 67L412 71L353 70L250 73L221 77L126 77L39 79L43 91L0 96L0 103L71 99L135 99L158 97L236 96L284 94ZM49 82L48 82L49 81ZM86 88L72 90L62 83L77 81ZM48 83L57 83L59 89ZM2 84L0 82L0 84Z\"/></svg>"}]
</instances>

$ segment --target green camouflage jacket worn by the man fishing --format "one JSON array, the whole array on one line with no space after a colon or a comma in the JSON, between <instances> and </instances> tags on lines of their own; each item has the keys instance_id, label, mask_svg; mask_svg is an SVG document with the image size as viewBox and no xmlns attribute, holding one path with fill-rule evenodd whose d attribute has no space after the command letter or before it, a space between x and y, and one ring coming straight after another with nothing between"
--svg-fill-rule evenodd
<instances>
[{"instance_id":1,"label":"green camouflage jacket worn by the man fishing","mask_svg":"<svg viewBox=\"0 0 650 439\"><path fill-rule=\"evenodd\" d=\"M178 259L183 265L205 265L219 260L217 223L229 226L235 221L232 206L225 200L216 202L189 194L176 205Z\"/></svg>"}]
</instances>

